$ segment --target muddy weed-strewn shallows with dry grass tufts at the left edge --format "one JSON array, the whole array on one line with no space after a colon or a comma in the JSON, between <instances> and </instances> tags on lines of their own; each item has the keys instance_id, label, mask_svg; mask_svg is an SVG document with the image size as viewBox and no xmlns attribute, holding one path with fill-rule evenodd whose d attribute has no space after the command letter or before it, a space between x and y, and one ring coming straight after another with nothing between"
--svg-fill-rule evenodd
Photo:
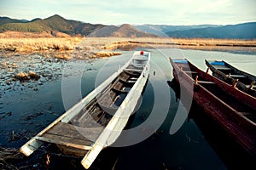
<instances>
[{"instance_id":1,"label":"muddy weed-strewn shallows with dry grass tufts at the left edge","mask_svg":"<svg viewBox=\"0 0 256 170\"><path fill-rule=\"evenodd\" d=\"M61 65L67 61L63 59L45 58L41 55L15 55L12 57L0 57L0 86L3 91L15 88L20 82L55 80L61 75Z\"/></svg>"}]
</instances>

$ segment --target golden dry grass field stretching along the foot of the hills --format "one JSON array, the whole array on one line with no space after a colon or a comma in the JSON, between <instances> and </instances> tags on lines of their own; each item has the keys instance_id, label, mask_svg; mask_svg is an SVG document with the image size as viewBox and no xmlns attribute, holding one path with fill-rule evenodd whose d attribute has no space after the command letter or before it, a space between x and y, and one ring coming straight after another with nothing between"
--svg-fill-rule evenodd
<instances>
[{"instance_id":1,"label":"golden dry grass field stretching along the foot of the hills","mask_svg":"<svg viewBox=\"0 0 256 170\"><path fill-rule=\"evenodd\" d=\"M250 48L256 51L256 40L184 39L165 37L0 37L0 51L11 53L133 50L134 48L226 49Z\"/></svg>"}]
</instances>

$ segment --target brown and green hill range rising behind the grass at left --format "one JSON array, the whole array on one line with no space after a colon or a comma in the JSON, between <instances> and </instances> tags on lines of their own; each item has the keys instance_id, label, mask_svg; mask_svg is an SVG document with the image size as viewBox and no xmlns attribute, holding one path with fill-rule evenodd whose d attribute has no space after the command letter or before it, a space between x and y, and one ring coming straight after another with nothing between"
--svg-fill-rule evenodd
<instances>
[{"instance_id":1,"label":"brown and green hill range rising behind the grass at left","mask_svg":"<svg viewBox=\"0 0 256 170\"><path fill-rule=\"evenodd\" d=\"M1 20L0 20L1 21ZM60 15L53 15L44 20L34 19L27 22L21 20L2 20L0 31L20 31L20 32L48 32L52 36L58 32L70 36L82 35L90 37L156 37L152 34L137 31L130 25L104 26L101 24L93 25L77 20L66 20Z\"/></svg>"}]
</instances>

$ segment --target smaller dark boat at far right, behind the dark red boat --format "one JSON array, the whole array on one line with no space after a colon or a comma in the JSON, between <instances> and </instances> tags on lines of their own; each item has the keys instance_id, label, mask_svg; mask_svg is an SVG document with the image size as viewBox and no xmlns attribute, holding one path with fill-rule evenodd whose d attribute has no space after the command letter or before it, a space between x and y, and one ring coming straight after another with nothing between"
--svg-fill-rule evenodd
<instances>
[{"instance_id":1,"label":"smaller dark boat at far right, behind the dark red boat","mask_svg":"<svg viewBox=\"0 0 256 170\"><path fill-rule=\"evenodd\" d=\"M218 77L241 91L256 97L256 77L247 72L240 71L225 61L206 60L206 64L214 77Z\"/></svg>"}]
</instances>

